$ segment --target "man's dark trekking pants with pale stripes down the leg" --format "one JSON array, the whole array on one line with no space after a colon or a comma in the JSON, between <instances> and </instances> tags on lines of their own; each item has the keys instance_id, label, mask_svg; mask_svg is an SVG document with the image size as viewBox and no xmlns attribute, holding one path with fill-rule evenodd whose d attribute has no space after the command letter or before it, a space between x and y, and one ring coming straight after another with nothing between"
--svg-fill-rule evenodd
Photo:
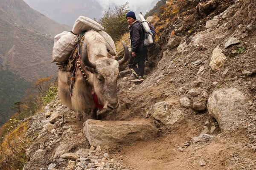
<instances>
[{"instance_id":1,"label":"man's dark trekking pants with pale stripes down the leg","mask_svg":"<svg viewBox=\"0 0 256 170\"><path fill-rule=\"evenodd\" d=\"M135 75L137 79L143 79L144 76L144 68L145 68L145 58L147 57L147 53L145 54L137 54L135 57L130 57L129 61L129 69ZM138 67L136 66L138 64Z\"/></svg>"}]
</instances>

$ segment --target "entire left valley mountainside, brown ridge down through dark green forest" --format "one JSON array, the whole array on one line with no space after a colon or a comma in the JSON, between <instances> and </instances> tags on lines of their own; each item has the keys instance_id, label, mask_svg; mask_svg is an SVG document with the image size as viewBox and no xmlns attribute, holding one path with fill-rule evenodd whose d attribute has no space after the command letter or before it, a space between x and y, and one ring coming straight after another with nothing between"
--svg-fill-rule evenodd
<instances>
[{"instance_id":1,"label":"entire left valley mountainside, brown ridge down through dark green forest","mask_svg":"<svg viewBox=\"0 0 256 170\"><path fill-rule=\"evenodd\" d=\"M57 73L53 37L72 28L45 17L23 0L0 0L0 125L32 81Z\"/></svg>"}]
</instances>

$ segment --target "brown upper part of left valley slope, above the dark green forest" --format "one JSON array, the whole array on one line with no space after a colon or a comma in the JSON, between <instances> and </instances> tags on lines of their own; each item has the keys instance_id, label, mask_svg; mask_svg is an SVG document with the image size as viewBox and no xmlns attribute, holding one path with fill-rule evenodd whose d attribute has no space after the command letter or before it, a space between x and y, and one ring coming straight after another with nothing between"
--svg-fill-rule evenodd
<instances>
[{"instance_id":1,"label":"brown upper part of left valley slope, above the dark green forest","mask_svg":"<svg viewBox=\"0 0 256 170\"><path fill-rule=\"evenodd\" d=\"M71 27L50 20L23 0L1 0L0 5L1 70L8 68L28 81L54 74L49 64L52 37Z\"/></svg>"}]
</instances>

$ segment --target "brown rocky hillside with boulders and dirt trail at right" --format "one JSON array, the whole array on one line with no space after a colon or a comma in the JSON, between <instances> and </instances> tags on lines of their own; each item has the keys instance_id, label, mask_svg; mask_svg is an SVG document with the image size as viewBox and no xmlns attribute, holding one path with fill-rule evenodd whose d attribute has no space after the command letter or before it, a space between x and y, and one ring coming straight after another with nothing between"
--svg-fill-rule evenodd
<instances>
[{"instance_id":1,"label":"brown rocky hillside with boulders and dirt trail at right","mask_svg":"<svg viewBox=\"0 0 256 170\"><path fill-rule=\"evenodd\" d=\"M57 96L25 120L23 170L256 169L256 3L180 2L144 82L120 72L118 109L76 121Z\"/></svg>"}]
</instances>

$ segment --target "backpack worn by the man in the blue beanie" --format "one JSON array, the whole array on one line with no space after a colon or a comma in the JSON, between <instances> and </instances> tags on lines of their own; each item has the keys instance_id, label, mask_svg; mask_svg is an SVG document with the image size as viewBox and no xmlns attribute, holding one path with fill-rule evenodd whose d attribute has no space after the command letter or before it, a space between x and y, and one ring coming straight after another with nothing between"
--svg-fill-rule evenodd
<instances>
[{"instance_id":1,"label":"backpack worn by the man in the blue beanie","mask_svg":"<svg viewBox=\"0 0 256 170\"><path fill-rule=\"evenodd\" d=\"M143 26L143 29L145 31L145 36L144 36L144 45L146 47L152 47L155 43L155 40L156 40L156 35L157 35L157 32L153 26L153 24L147 22L147 21L143 21L143 22L146 22L148 23L148 27L150 28L149 31L146 31L144 26ZM143 23L142 22L142 23Z\"/></svg>"}]
</instances>

